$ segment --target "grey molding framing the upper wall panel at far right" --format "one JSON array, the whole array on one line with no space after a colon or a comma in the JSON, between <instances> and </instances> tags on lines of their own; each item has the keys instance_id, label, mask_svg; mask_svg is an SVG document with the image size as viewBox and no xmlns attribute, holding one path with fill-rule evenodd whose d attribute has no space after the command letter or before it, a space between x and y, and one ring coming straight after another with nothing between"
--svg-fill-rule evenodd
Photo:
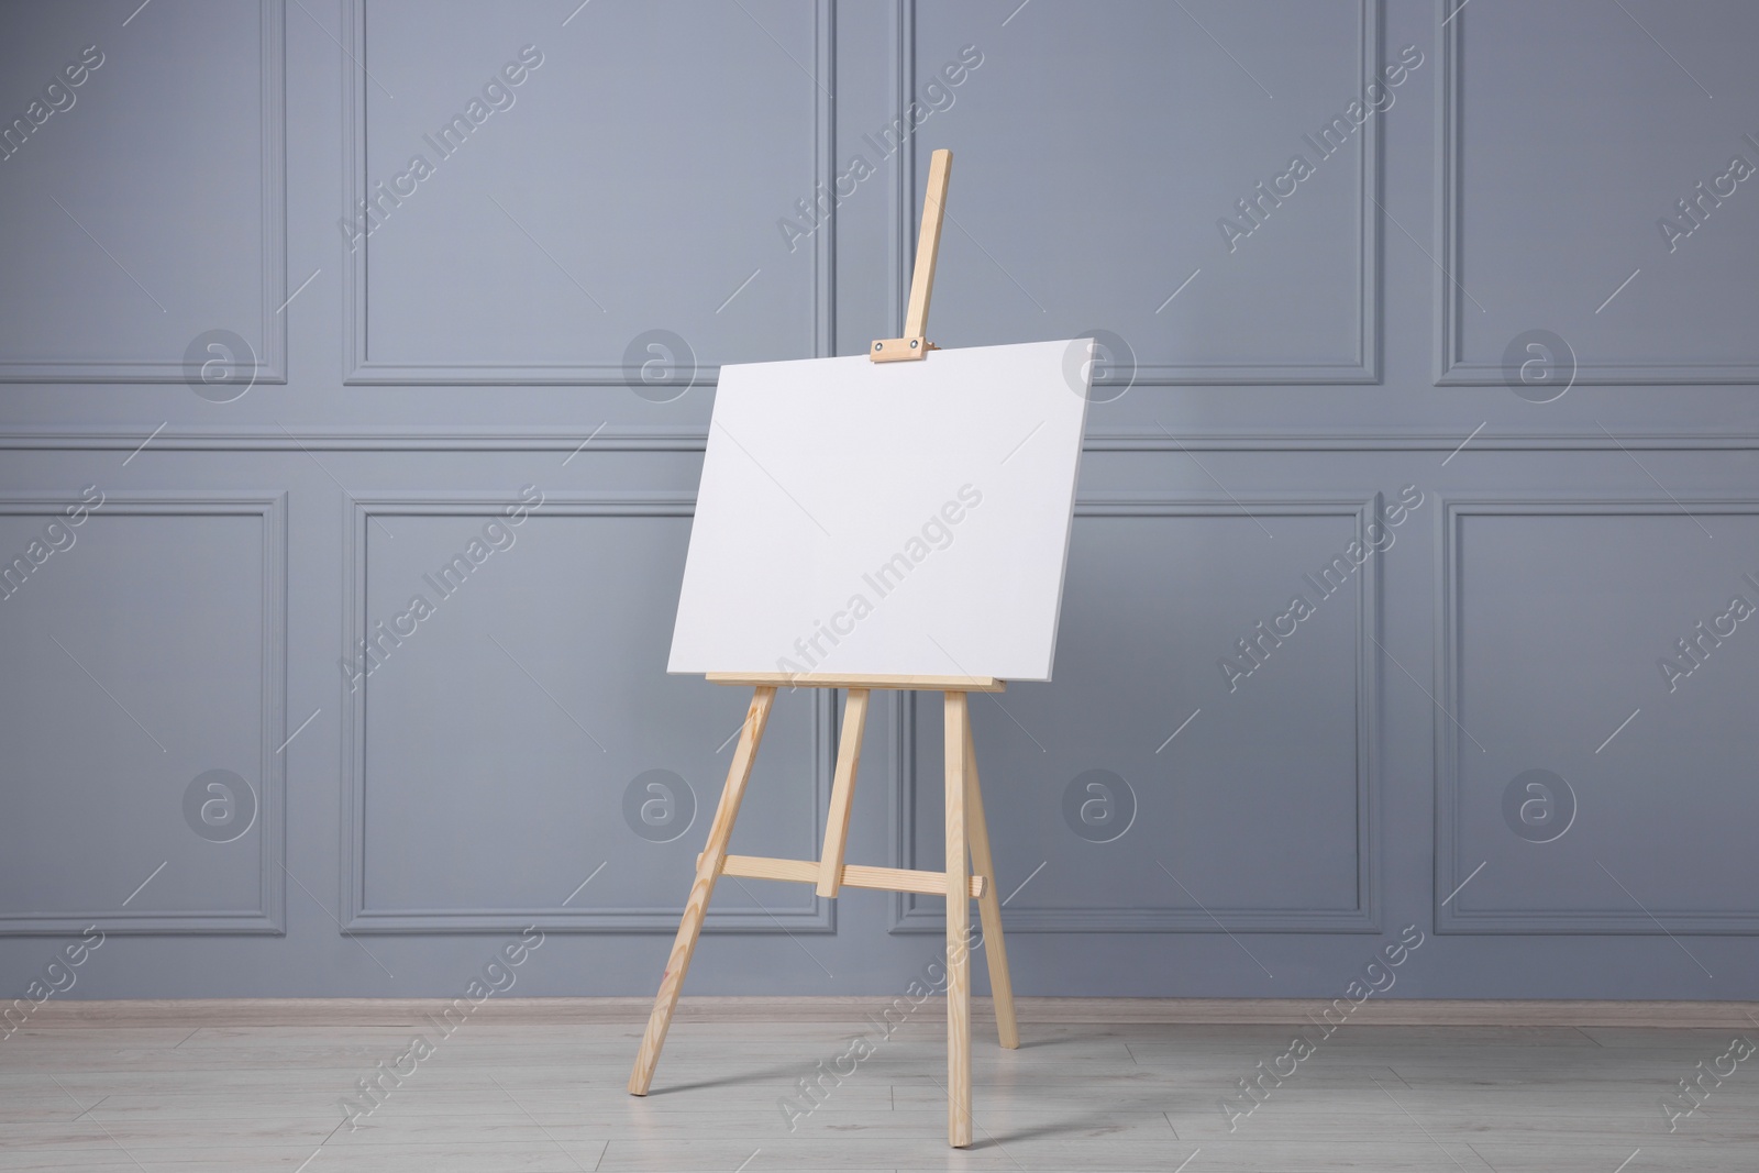
<instances>
[{"instance_id":1,"label":"grey molding framing the upper wall panel at far right","mask_svg":"<svg viewBox=\"0 0 1759 1173\"><path fill-rule=\"evenodd\" d=\"M1465 202L1462 144L1462 74L1463 26L1472 16L1465 5L1437 0L1437 44L1441 67L1435 79L1435 361L1437 387L1500 387L1507 383L1500 357L1493 362L1469 361L1462 350L1465 306L1451 274L1462 273L1463 239L1460 232ZM1583 362L1576 357L1576 387L1617 385L1717 385L1759 383L1759 359L1747 362L1697 362L1666 359L1660 362Z\"/></svg>"}]
</instances>

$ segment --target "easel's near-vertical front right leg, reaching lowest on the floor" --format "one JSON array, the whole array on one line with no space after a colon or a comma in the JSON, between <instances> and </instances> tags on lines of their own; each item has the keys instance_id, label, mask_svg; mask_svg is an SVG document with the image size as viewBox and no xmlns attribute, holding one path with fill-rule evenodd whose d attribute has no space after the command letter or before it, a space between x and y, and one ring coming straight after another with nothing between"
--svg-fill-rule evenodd
<instances>
[{"instance_id":1,"label":"easel's near-vertical front right leg, reaching lowest on the floor","mask_svg":"<svg viewBox=\"0 0 1759 1173\"><path fill-rule=\"evenodd\" d=\"M966 858L969 719L966 695L946 693L946 1141L953 1148L971 1147L971 865Z\"/></svg>"}]
</instances>

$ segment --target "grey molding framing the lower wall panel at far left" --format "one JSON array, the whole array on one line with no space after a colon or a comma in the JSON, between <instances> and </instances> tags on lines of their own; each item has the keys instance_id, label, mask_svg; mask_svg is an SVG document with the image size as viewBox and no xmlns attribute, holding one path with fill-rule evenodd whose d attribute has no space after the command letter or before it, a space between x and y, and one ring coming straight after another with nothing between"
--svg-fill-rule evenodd
<instances>
[{"instance_id":1,"label":"grey molding framing the lower wall panel at far left","mask_svg":"<svg viewBox=\"0 0 1759 1173\"><path fill-rule=\"evenodd\" d=\"M58 517L67 494L7 492L0 515ZM0 914L0 936L77 936L90 925L120 936L281 936L287 925L285 765L287 737L287 494L285 492L107 492L104 517L260 517L262 519L262 698L259 709L257 907L183 909L174 913L116 906L79 913Z\"/></svg>"}]
</instances>

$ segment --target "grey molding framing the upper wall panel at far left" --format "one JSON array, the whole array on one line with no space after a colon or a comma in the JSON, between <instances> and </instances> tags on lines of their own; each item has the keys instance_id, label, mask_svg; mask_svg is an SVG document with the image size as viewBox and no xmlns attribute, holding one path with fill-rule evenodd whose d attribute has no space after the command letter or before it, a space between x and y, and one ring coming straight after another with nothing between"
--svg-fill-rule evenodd
<instances>
[{"instance_id":1,"label":"grey molding framing the upper wall panel at far left","mask_svg":"<svg viewBox=\"0 0 1759 1173\"><path fill-rule=\"evenodd\" d=\"M260 37L260 216L262 267L257 355L259 383L287 382L287 0L257 0ZM183 383L183 355L174 359L35 359L0 362L0 383Z\"/></svg>"}]
</instances>

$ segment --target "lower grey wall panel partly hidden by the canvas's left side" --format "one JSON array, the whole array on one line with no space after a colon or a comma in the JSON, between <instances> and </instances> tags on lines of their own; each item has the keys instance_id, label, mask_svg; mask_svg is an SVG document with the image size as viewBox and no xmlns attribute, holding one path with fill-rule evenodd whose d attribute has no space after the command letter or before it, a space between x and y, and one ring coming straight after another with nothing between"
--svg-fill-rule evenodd
<instances>
[{"instance_id":1,"label":"lower grey wall panel partly hidden by the canvas's left side","mask_svg":"<svg viewBox=\"0 0 1759 1173\"><path fill-rule=\"evenodd\" d=\"M677 929L751 698L665 675L690 514L536 489L352 501L350 932ZM816 858L827 721L806 693L777 703L735 851ZM797 885L726 879L707 925L834 918Z\"/></svg>"}]
</instances>

